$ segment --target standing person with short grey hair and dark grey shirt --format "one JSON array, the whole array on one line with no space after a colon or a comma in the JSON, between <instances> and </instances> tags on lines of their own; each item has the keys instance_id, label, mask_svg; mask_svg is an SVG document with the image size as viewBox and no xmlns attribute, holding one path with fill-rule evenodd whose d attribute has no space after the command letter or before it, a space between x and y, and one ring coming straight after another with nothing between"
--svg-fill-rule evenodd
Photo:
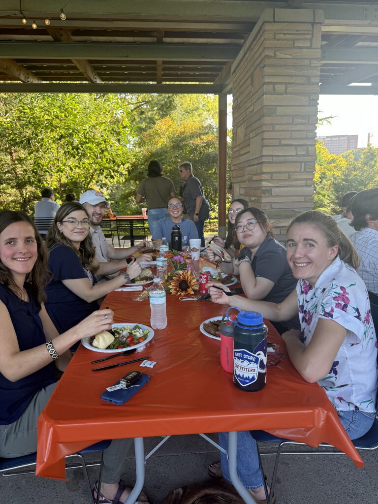
<instances>
[{"instance_id":1,"label":"standing person with short grey hair and dark grey shirt","mask_svg":"<svg viewBox=\"0 0 378 504\"><path fill-rule=\"evenodd\" d=\"M201 246L205 246L204 226L210 215L210 205L200 180L193 175L192 163L185 161L178 167L178 175L185 182L182 197L188 217L196 224Z\"/></svg>"}]
</instances>

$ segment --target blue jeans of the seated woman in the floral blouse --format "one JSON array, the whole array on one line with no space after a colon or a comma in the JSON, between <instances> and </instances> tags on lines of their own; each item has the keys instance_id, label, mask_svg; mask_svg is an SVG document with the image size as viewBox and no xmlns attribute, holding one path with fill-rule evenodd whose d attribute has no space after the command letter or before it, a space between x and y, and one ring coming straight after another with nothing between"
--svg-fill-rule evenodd
<instances>
[{"instance_id":1,"label":"blue jeans of the seated woman in the floral blouse","mask_svg":"<svg viewBox=\"0 0 378 504\"><path fill-rule=\"evenodd\" d=\"M360 410L338 411L340 422L351 439L357 439L370 429L375 413L364 413ZM219 445L228 450L228 432L219 432ZM223 477L231 483L228 471L228 461L221 452ZM237 433L237 475L248 490L255 490L263 485L263 477L259 466L256 440L249 431Z\"/></svg>"}]
</instances>

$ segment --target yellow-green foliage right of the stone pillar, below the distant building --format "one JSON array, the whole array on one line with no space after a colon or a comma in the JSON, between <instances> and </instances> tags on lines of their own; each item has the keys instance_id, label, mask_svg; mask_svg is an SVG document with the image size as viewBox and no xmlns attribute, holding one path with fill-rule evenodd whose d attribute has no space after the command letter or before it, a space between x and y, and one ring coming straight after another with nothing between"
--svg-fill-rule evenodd
<instances>
[{"instance_id":1,"label":"yellow-green foliage right of the stone pillar, below the distant building","mask_svg":"<svg viewBox=\"0 0 378 504\"><path fill-rule=\"evenodd\" d=\"M378 185L378 148L331 154L322 142L317 145L314 174L314 208L331 214L340 212L341 197Z\"/></svg>"}]
</instances>

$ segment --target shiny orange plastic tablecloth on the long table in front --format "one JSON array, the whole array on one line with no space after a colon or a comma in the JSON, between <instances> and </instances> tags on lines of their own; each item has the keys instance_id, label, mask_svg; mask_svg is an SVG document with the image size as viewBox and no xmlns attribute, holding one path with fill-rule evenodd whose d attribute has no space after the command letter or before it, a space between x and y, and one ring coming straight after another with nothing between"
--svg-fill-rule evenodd
<instances>
[{"instance_id":1,"label":"shiny orange plastic tablecloth on the long table in front","mask_svg":"<svg viewBox=\"0 0 378 504\"><path fill-rule=\"evenodd\" d=\"M148 300L137 302L137 292L113 292L103 306L114 310L115 322L150 325ZM167 296L167 328L155 331L147 349L157 364L139 363L93 372L91 360L104 354L80 347L38 420L38 476L64 479L66 455L101 439L265 429L304 441L310 446L327 442L363 465L325 392L308 384L285 356L268 367L267 385L247 393L232 383L232 374L220 365L220 342L204 336L199 325L225 313L210 301L179 301ZM268 339L284 344L268 322ZM116 363L119 357L109 362ZM106 365L106 364L104 364ZM101 401L106 387L127 371L140 369L150 382L122 406Z\"/></svg>"}]
</instances>

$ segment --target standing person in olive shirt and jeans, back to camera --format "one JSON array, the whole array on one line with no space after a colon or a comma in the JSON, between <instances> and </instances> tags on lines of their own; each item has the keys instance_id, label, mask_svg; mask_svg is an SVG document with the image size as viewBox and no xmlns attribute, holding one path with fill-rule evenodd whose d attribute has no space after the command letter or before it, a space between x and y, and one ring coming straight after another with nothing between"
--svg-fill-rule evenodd
<instances>
[{"instance_id":1,"label":"standing person in olive shirt and jeans, back to camera","mask_svg":"<svg viewBox=\"0 0 378 504\"><path fill-rule=\"evenodd\" d=\"M143 198L146 198L148 227L151 234L154 232L157 221L168 217L168 200L176 196L172 180L164 177L162 173L163 169L159 161L150 161L147 177L141 181L135 198L137 203L141 203Z\"/></svg>"}]
</instances>

